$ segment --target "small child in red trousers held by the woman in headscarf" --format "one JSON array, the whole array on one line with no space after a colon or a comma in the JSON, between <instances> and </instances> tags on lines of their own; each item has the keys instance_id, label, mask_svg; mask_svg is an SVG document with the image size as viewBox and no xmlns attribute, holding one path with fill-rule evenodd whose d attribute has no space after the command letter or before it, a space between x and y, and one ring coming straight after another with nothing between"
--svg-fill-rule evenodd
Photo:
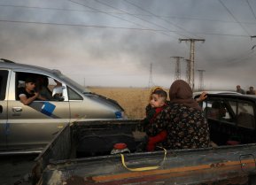
<instances>
[{"instance_id":1,"label":"small child in red trousers held by the woman in headscarf","mask_svg":"<svg viewBox=\"0 0 256 185\"><path fill-rule=\"evenodd\" d=\"M146 109L146 124L151 124L153 120L158 116L164 107L167 105L167 92L163 89L157 89L151 94L151 109ZM148 138L148 143L146 149L148 151L155 150L157 143L164 141L167 138L167 131L163 130L158 135L151 136Z\"/></svg>"}]
</instances>

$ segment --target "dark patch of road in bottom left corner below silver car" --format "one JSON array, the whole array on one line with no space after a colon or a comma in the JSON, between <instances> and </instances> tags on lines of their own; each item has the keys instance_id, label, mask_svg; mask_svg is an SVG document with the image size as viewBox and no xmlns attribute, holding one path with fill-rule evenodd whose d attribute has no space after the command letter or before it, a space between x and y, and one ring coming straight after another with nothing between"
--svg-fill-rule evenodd
<instances>
[{"instance_id":1,"label":"dark patch of road in bottom left corner below silver car","mask_svg":"<svg viewBox=\"0 0 256 185\"><path fill-rule=\"evenodd\" d=\"M36 155L0 157L0 185L31 184L29 174L35 164Z\"/></svg>"}]
</instances>

